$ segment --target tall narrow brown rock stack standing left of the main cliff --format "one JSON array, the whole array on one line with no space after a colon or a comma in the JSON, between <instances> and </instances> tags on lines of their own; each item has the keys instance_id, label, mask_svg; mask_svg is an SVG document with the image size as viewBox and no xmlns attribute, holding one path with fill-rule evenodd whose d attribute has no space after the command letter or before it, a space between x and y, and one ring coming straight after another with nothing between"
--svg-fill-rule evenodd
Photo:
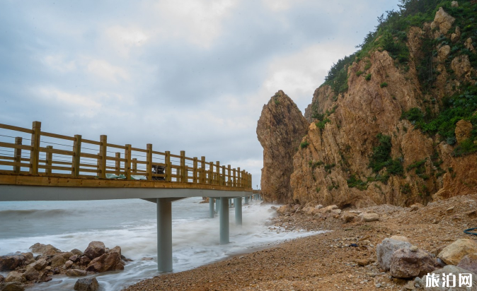
<instances>
[{"instance_id":1,"label":"tall narrow brown rock stack standing left of the main cliff","mask_svg":"<svg viewBox=\"0 0 477 291\"><path fill-rule=\"evenodd\" d=\"M282 90L263 106L257 136L263 147L261 189L265 201L292 202L290 175L293 155L306 135L309 123Z\"/></svg>"}]
</instances>

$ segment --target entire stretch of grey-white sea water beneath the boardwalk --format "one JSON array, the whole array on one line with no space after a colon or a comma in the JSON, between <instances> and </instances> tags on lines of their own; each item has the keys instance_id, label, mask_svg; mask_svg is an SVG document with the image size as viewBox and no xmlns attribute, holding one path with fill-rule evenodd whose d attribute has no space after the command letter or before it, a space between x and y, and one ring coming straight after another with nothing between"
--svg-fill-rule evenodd
<instances>
[{"instance_id":1,"label":"entire stretch of grey-white sea water beneath the boardwalk","mask_svg":"<svg viewBox=\"0 0 477 291\"><path fill-rule=\"evenodd\" d=\"M251 201L243 206L242 226L235 225L234 209L230 208L230 244L221 245L219 218L209 218L209 203L200 201L202 198L187 198L172 203L173 272L319 233L270 229L265 222L274 211L260 201ZM159 275L156 231L156 203L140 199L0 202L0 256L27 252L37 242L62 251L84 251L91 241L104 242L108 248L120 246L122 254L133 261L124 271L93 275L101 291L121 290ZM66 275L52 277L29 290L73 290L78 280Z\"/></svg>"}]
</instances>

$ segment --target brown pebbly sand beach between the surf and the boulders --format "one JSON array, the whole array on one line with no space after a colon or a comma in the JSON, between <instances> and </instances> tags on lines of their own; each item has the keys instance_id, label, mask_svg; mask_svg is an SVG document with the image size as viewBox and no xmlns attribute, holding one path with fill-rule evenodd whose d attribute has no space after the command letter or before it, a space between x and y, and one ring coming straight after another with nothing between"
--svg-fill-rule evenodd
<instances>
[{"instance_id":1,"label":"brown pebbly sand beach between the surf and the boulders","mask_svg":"<svg viewBox=\"0 0 477 291\"><path fill-rule=\"evenodd\" d=\"M277 216L270 227L330 230L234 256L207 266L142 280L124 291L148 290L401 290L406 280L391 278L376 262L376 246L393 235L437 254L456 239L477 237L463 230L477 225L477 195L435 201L419 208L374 206L379 221L344 222L301 211ZM357 247L350 247L357 244Z\"/></svg>"}]
</instances>

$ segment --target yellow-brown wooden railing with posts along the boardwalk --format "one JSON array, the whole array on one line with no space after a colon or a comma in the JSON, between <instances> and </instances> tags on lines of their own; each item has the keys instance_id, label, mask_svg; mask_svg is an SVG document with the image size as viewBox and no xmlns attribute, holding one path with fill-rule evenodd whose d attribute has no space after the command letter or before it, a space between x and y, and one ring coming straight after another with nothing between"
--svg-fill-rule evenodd
<instances>
[{"instance_id":1,"label":"yellow-brown wooden railing with posts along the boardwalk","mask_svg":"<svg viewBox=\"0 0 477 291\"><path fill-rule=\"evenodd\" d=\"M107 136L91 141L81 135L48 133L41 130L39 121L33 122L32 129L6 124L0 124L0 129L4 129L0 131L0 174L91 179L107 179L110 176L107 174L115 174L124 175L120 177L127 180L143 178L158 183L252 187L251 174L245 170L232 169L230 165L225 167L218 161L206 162L205 157L188 158L183 150L180 155L173 155L169 151L153 150L152 144L142 149L130 144L108 143ZM9 138L14 142L2 141ZM30 145L24 141L29 141Z\"/></svg>"}]
</instances>

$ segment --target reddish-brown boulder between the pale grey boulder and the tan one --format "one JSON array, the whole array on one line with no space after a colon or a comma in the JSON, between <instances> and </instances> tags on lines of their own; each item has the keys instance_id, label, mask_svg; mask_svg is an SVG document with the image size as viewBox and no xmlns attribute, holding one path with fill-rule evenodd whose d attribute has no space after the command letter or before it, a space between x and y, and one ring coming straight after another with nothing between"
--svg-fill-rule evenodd
<instances>
[{"instance_id":1,"label":"reddish-brown boulder between the pale grey boulder and the tan one","mask_svg":"<svg viewBox=\"0 0 477 291\"><path fill-rule=\"evenodd\" d=\"M390 270L394 278L415 278L434 271L435 261L422 249L398 249L391 256Z\"/></svg>"}]
</instances>

